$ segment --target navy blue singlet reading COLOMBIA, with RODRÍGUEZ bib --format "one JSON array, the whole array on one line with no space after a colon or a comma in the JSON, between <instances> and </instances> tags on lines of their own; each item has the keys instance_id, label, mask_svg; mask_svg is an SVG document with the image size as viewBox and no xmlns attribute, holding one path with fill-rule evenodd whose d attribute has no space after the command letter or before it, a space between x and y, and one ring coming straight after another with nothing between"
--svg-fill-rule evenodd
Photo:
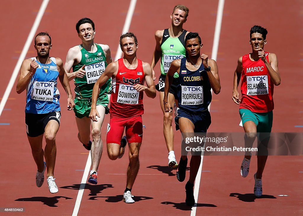
<instances>
[{"instance_id":1,"label":"navy blue singlet reading COLOMBIA, with RODR\u00cdGUEZ bib","mask_svg":"<svg viewBox=\"0 0 303 216\"><path fill-rule=\"evenodd\" d=\"M178 107L188 111L204 111L211 102L211 86L203 64L196 71L186 68L186 58L181 59L178 88Z\"/></svg>"}]
</instances>

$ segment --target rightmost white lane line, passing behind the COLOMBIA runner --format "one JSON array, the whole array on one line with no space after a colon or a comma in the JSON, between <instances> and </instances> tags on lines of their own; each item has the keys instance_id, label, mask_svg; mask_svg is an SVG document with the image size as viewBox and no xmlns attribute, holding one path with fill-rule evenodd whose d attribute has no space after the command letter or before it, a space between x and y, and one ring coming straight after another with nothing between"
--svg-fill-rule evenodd
<instances>
[{"instance_id":1,"label":"rightmost white lane line, passing behind the COLOMBIA runner","mask_svg":"<svg viewBox=\"0 0 303 216\"><path fill-rule=\"evenodd\" d=\"M220 39L220 32L221 32L223 8L224 8L224 0L219 0L218 11L217 11L217 20L216 20L216 26L215 26L214 44L212 46L212 51L211 51L211 59L214 59L215 61L217 60L217 55L218 55L218 47L219 47L219 39ZM211 93L212 92L213 91L211 89ZM210 105L211 105L211 103L208 106L208 110L210 110ZM200 167L198 169L198 174L197 174L196 180L195 180L194 197L195 197L196 203L192 207L191 214L190 214L191 216L195 216L196 211L197 211L197 203L198 203L198 196L199 196L202 164L203 164L203 155L201 155L201 164L200 164Z\"/></svg>"}]
</instances>

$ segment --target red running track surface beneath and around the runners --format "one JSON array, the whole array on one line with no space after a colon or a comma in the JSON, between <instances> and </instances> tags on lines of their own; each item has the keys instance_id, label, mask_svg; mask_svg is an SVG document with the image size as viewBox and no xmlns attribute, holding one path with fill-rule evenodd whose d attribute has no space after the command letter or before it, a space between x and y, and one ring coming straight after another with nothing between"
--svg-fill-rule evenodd
<instances>
[{"instance_id":1,"label":"red running track surface beneath and around the runners","mask_svg":"<svg viewBox=\"0 0 303 216\"><path fill-rule=\"evenodd\" d=\"M82 3L82 5L81 5ZM138 58L150 62L155 47L154 33L168 28L169 15L179 2L138 0L130 31L138 37ZM204 44L202 52L211 56L218 2L191 1L180 3L190 9L184 28L199 32ZM2 29L2 97L11 73L24 46L41 2L24 1L1 3L0 17L5 20ZM82 17L95 21L95 42L111 47L112 56L118 46L129 1L95 1L93 7L81 1L50 0L38 32L48 31L52 36L51 56L65 61L66 53L80 40L75 23ZM12 13L13 12L13 13ZM17 16L18 15L18 16ZM210 132L242 132L238 126L238 107L231 100L232 79L237 58L250 51L249 29L262 25L268 29L266 51L279 59L281 85L275 88L273 132L302 132L302 43L303 3L293 1L266 1L252 3L226 1L222 20L217 63L221 79L221 93L213 97ZM26 58L34 56L32 45ZM159 76L159 63L156 66ZM71 84L73 88L73 84ZM35 186L36 166L25 133L25 93L18 95L15 86L0 117L2 157L0 158L0 208L25 208L24 213L0 215L72 215L81 183L88 152L79 143L74 113L65 110L66 96L61 88L62 121L57 134L57 162L55 167L57 194L50 194L47 184ZM190 215L191 208L184 203L185 183L179 183L175 170L167 167L167 150L162 135L162 114L159 98L145 97L143 116L146 130L140 153L139 175L133 187L136 203L122 202L125 189L128 158L111 161L106 147L98 170L98 185L86 184L79 216L88 215ZM102 129L105 143L107 116ZM180 133L175 133L175 152L180 155ZM263 174L263 194L253 195L253 174L256 157L252 158L251 173L247 178L239 174L240 156L204 157L196 215L302 215L302 156L269 157ZM79 171L77 171L79 170ZM118 175L117 175L118 174ZM288 197L279 197L288 194Z\"/></svg>"}]
</instances>

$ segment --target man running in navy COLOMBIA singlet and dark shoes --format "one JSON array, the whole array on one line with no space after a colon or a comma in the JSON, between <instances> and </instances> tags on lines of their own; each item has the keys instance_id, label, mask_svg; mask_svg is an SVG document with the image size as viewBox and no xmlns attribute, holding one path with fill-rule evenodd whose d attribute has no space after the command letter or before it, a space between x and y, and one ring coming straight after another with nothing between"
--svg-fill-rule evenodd
<instances>
[{"instance_id":1,"label":"man running in navy COLOMBIA singlet and dark shoes","mask_svg":"<svg viewBox=\"0 0 303 216\"><path fill-rule=\"evenodd\" d=\"M206 133L211 124L211 116L208 111L211 89L215 94L221 90L217 63L213 59L208 59L205 54L200 55L202 46L198 33L189 32L185 37L188 57L171 62L165 79L164 111L171 112L168 92L174 73L177 71L179 74L181 88L178 88L177 92L178 110L175 123L176 129L180 129L182 133L183 140L192 137L194 133ZM184 154L184 151L181 153L177 170L177 179L180 182L185 180L187 166L187 154ZM189 180L185 185L185 203L189 206L195 204L193 187L200 163L201 154L191 156Z\"/></svg>"}]
</instances>

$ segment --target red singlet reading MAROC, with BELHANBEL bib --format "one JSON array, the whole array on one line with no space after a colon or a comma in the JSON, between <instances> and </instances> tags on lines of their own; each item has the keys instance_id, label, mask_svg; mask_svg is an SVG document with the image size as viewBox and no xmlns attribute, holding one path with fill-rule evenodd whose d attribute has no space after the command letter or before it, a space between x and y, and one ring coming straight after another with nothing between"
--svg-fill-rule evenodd
<instances>
[{"instance_id":1,"label":"red singlet reading MAROC, with BELHANBEL bib","mask_svg":"<svg viewBox=\"0 0 303 216\"><path fill-rule=\"evenodd\" d=\"M268 60L268 52L265 58ZM252 61L249 54L242 56L241 103L239 109L256 113L270 112L274 109L274 84L270 79L265 63L259 59Z\"/></svg>"}]
</instances>

